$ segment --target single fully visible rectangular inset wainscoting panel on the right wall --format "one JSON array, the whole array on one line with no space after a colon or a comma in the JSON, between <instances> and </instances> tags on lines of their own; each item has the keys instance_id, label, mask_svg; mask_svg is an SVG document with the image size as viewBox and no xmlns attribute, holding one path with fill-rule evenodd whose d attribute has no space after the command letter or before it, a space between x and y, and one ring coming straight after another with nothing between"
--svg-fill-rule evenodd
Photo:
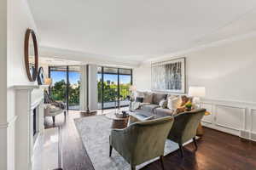
<instances>
[{"instance_id":1,"label":"single fully visible rectangular inset wainscoting panel on the right wall","mask_svg":"<svg viewBox=\"0 0 256 170\"><path fill-rule=\"evenodd\" d=\"M240 131L243 125L246 108L230 105L216 105L216 124L221 127Z\"/></svg>"}]
</instances>

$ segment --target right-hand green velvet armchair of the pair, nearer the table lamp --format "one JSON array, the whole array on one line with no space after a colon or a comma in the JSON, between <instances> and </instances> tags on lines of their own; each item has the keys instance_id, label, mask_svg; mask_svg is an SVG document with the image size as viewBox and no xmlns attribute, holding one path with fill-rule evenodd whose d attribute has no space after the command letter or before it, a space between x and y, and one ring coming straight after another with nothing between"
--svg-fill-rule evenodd
<instances>
[{"instance_id":1,"label":"right-hand green velvet armchair of the pair, nearer the table lamp","mask_svg":"<svg viewBox=\"0 0 256 170\"><path fill-rule=\"evenodd\" d=\"M183 112L177 116L174 116L174 122L168 135L168 139L171 139L179 145L182 157L183 144L188 142L190 139L193 139L195 150L197 150L197 144L195 140L196 129L201 122L201 118L204 116L205 112L205 109L200 109L196 111Z\"/></svg>"}]
</instances>

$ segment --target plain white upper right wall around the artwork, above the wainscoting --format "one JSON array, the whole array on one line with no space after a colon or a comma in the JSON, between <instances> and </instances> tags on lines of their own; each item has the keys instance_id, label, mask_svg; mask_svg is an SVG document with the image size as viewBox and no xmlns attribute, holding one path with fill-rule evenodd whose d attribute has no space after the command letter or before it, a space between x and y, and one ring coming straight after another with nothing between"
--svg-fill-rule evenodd
<instances>
[{"instance_id":1,"label":"plain white upper right wall around the artwork, above the wainscoting","mask_svg":"<svg viewBox=\"0 0 256 170\"><path fill-rule=\"evenodd\" d=\"M187 89L204 86L206 98L256 102L255 44L253 37L177 56L186 57ZM134 82L138 89L150 90L150 64L134 69Z\"/></svg>"}]
</instances>

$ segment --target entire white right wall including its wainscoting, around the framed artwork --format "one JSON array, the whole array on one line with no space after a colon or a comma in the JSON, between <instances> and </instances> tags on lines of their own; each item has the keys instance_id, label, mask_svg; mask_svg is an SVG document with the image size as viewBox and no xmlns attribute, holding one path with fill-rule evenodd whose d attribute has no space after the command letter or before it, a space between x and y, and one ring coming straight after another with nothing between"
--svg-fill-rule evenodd
<instances>
[{"instance_id":1,"label":"entire white right wall including its wainscoting, around the framed artwork","mask_svg":"<svg viewBox=\"0 0 256 170\"><path fill-rule=\"evenodd\" d=\"M186 57L187 89L207 89L202 105L212 115L204 117L205 126L256 140L255 44L250 37L175 57ZM137 89L150 90L150 64L133 72Z\"/></svg>"}]
</instances>

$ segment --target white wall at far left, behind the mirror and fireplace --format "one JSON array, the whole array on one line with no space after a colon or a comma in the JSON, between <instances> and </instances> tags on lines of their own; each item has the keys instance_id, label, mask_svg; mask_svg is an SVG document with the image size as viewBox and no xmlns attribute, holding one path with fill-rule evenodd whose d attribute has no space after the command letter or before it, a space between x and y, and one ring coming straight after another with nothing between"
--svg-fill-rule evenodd
<instances>
[{"instance_id":1,"label":"white wall at far left, behind the mirror and fireplace","mask_svg":"<svg viewBox=\"0 0 256 170\"><path fill-rule=\"evenodd\" d=\"M15 169L15 118L19 119L19 111L15 111L15 91L12 86L34 83L28 81L24 64L24 39L27 28L36 30L27 1L2 0L0 2L0 123L2 123L0 124L0 169Z\"/></svg>"}]
</instances>

